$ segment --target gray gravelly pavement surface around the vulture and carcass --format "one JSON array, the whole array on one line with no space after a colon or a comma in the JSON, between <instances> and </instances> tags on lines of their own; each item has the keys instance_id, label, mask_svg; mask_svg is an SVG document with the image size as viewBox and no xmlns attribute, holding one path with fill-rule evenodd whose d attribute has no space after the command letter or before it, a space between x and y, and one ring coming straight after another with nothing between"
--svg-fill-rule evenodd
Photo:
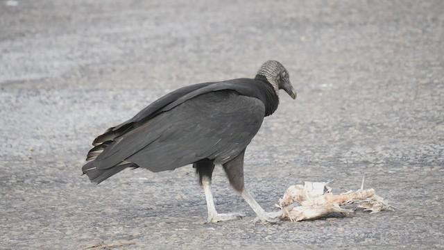
<instances>
[{"instance_id":1,"label":"gray gravelly pavement surface around the vulture and carcass","mask_svg":"<svg viewBox=\"0 0 444 250\"><path fill-rule=\"evenodd\" d=\"M443 248L444 1L0 1L0 249ZM191 83L287 67L298 99L246 153L266 210L289 186L375 188L395 212L253 224L214 173L81 176L90 143Z\"/></svg>"}]
</instances>

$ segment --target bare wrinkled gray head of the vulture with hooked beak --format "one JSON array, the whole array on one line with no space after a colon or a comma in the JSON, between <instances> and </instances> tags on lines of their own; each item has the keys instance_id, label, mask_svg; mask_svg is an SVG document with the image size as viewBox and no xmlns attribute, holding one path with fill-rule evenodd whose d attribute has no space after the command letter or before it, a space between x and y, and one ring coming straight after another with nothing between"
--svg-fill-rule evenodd
<instances>
[{"instance_id":1,"label":"bare wrinkled gray head of the vulture with hooked beak","mask_svg":"<svg viewBox=\"0 0 444 250\"><path fill-rule=\"evenodd\" d=\"M266 61L257 71L257 75L265 76L268 83L271 83L275 89L276 94L279 94L279 90L285 90L291 98L296 99L296 91L290 83L289 72L278 61Z\"/></svg>"}]
</instances>

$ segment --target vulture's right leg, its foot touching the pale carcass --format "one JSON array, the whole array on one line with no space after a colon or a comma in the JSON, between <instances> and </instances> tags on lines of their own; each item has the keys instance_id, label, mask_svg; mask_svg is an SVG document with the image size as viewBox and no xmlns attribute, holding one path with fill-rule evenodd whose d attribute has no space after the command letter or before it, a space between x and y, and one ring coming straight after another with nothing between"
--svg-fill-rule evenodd
<instances>
[{"instance_id":1,"label":"vulture's right leg, its foot touching the pale carcass","mask_svg":"<svg viewBox=\"0 0 444 250\"><path fill-rule=\"evenodd\" d=\"M250 195L250 193L244 187L244 151L242 151L239 156L233 158L228 163L223 165L223 169L228 176L228 180L232 187L237 190L244 197L245 201L250 205L255 211L257 220L263 222L278 222L280 220L280 213L268 213L259 206L255 199Z\"/></svg>"}]
</instances>

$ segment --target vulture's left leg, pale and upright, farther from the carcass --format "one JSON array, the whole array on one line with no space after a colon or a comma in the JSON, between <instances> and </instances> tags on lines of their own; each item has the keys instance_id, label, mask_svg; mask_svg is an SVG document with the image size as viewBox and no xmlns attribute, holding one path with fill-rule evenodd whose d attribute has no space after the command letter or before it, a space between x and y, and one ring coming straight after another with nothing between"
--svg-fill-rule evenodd
<instances>
[{"instance_id":1,"label":"vulture's left leg, pale and upright, farther from the carcass","mask_svg":"<svg viewBox=\"0 0 444 250\"><path fill-rule=\"evenodd\" d=\"M213 173L214 165L212 161L202 160L198 163L194 163L196 172L199 175L200 184L203 186L205 192L205 199L207 200L208 209L208 222L223 222L232 219L241 219L245 215L236 213L217 213L214 207L213 195L211 193L211 176Z\"/></svg>"}]
</instances>

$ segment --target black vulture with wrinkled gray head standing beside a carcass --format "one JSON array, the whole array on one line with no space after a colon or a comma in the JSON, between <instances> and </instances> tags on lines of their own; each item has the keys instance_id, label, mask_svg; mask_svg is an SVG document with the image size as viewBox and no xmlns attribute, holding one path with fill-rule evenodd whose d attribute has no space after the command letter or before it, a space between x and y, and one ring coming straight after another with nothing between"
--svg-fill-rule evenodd
<instances>
[{"instance_id":1,"label":"black vulture with wrinkled gray head standing beside a carcass","mask_svg":"<svg viewBox=\"0 0 444 250\"><path fill-rule=\"evenodd\" d=\"M203 185L208 221L241 217L216 212L210 189L214 165L222 165L230 185L253 208L258 219L276 222L244 188L244 153L264 117L278 108L279 90L293 99L296 92L287 69L275 60L260 67L254 79L198 83L157 99L128 119L99 135L82 167L101 183L127 167L152 172L193 164Z\"/></svg>"}]
</instances>

